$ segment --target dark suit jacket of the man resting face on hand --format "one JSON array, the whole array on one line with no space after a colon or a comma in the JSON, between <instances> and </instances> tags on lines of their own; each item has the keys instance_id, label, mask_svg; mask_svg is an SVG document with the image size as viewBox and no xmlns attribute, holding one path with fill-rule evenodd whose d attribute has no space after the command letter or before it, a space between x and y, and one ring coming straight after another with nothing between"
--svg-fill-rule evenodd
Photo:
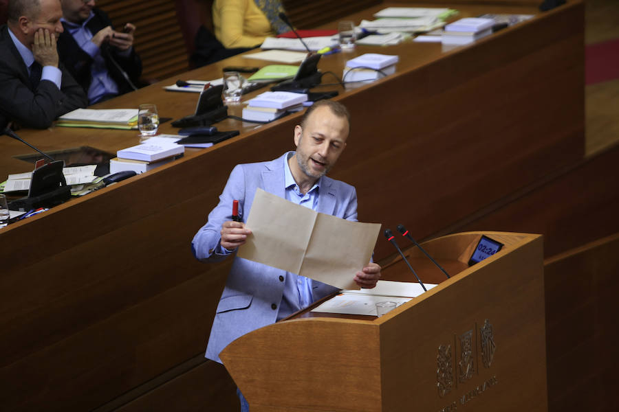
<instances>
[{"instance_id":1,"label":"dark suit jacket of the man resting face on hand","mask_svg":"<svg viewBox=\"0 0 619 412\"><path fill-rule=\"evenodd\" d=\"M43 80L34 89L28 67L13 44L8 27L0 27L0 127L15 121L24 127L47 128L56 117L79 107L86 107L86 93L59 65L63 76L61 89Z\"/></svg>"}]
</instances>

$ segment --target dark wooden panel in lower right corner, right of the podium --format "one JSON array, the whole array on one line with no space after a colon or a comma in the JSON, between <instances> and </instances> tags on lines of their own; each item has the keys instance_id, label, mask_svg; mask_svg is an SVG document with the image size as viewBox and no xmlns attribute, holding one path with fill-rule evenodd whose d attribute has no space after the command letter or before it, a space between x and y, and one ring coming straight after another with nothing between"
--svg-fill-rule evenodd
<instances>
[{"instance_id":1,"label":"dark wooden panel in lower right corner, right of the podium","mask_svg":"<svg viewBox=\"0 0 619 412\"><path fill-rule=\"evenodd\" d=\"M545 262L549 411L618 411L619 233Z\"/></svg>"}]
</instances>

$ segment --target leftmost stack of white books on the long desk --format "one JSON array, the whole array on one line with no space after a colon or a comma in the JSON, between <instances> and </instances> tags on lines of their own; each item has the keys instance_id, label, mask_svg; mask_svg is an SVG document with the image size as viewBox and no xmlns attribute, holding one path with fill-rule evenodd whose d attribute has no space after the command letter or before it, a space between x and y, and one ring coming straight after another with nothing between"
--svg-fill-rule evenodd
<instances>
[{"instance_id":1,"label":"leftmost stack of white books on the long desk","mask_svg":"<svg viewBox=\"0 0 619 412\"><path fill-rule=\"evenodd\" d=\"M157 137L138 146L118 150L116 156L109 160L109 172L116 173L123 170L133 170L135 173L144 173L169 163L184 154L185 147Z\"/></svg>"}]
</instances>

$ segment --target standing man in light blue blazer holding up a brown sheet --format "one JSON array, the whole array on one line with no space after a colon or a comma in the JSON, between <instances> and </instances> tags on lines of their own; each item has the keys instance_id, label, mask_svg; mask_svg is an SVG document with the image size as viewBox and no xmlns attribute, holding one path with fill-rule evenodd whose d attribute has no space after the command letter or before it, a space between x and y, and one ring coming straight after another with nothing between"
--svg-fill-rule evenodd
<instances>
[{"instance_id":1,"label":"standing man in light blue blazer holding up a brown sheet","mask_svg":"<svg viewBox=\"0 0 619 412\"><path fill-rule=\"evenodd\" d=\"M219 196L219 204L192 242L195 257L216 262L232 254L251 233L244 222L257 187L324 214L357 220L355 188L325 174L346 147L349 114L338 102L321 100L307 109L294 128L296 152L261 163L237 165ZM232 201L239 201L243 222L232 221ZM354 276L373 288L380 266L369 262ZM219 352L239 336L270 325L335 292L333 286L281 269L237 258L219 300L206 357L221 363ZM241 400L242 402L242 400Z\"/></svg>"}]
</instances>

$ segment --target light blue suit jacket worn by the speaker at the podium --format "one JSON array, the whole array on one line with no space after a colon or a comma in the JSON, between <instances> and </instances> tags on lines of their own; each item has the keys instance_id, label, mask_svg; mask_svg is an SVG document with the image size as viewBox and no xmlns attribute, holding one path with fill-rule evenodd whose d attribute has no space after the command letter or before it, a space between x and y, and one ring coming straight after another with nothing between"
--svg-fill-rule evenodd
<instances>
[{"instance_id":1,"label":"light blue suit jacket worn by the speaker at the podium","mask_svg":"<svg viewBox=\"0 0 619 412\"><path fill-rule=\"evenodd\" d=\"M203 262L221 260L213 253L220 240L221 224L232 220L232 201L239 201L239 215L246 221L257 187L285 198L284 157L262 163L237 165L219 204L208 215L208 222L196 233L192 242L195 258ZM317 211L357 220L357 194L346 183L322 177ZM221 363L219 352L239 336L275 323L281 305L286 272L281 269L237 258L232 264L226 288L219 299L217 314L210 330L206 357ZM314 300L338 289L312 280Z\"/></svg>"}]
</instances>

